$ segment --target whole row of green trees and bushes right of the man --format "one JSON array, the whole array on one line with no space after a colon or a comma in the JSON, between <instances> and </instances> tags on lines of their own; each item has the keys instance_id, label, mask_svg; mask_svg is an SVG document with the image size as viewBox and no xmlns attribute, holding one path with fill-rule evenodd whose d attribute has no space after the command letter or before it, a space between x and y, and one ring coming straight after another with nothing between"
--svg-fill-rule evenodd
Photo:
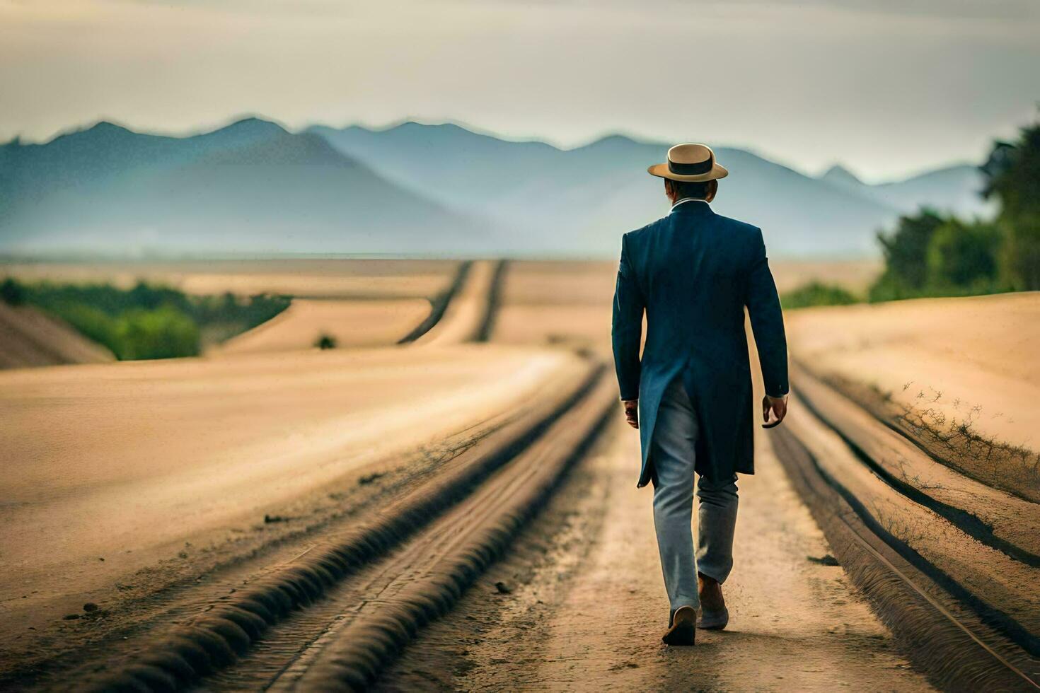
<instances>
[{"instance_id":1,"label":"whole row of green trees and bushes right of the man","mask_svg":"<svg viewBox=\"0 0 1040 693\"><path fill-rule=\"evenodd\" d=\"M900 217L878 234L885 269L865 296L814 283L781 296L783 306L1040 290L1040 123L1022 128L1014 142L996 142L980 168L980 193L998 206L994 219L930 209Z\"/></svg>"}]
</instances>

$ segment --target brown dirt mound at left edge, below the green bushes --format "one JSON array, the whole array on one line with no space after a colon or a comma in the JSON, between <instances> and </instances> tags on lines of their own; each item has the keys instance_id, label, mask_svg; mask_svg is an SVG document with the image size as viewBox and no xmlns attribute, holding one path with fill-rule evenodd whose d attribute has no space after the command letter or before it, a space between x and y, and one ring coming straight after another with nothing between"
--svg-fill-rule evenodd
<instances>
[{"instance_id":1,"label":"brown dirt mound at left edge, below the green bushes","mask_svg":"<svg viewBox=\"0 0 1040 693\"><path fill-rule=\"evenodd\" d=\"M108 349L32 308L0 302L0 368L102 364Z\"/></svg>"}]
</instances>

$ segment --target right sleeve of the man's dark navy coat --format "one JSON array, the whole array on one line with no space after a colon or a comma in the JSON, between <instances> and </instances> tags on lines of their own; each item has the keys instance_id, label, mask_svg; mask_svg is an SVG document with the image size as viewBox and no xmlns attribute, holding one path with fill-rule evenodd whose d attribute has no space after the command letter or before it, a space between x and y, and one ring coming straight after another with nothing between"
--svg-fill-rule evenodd
<instances>
[{"instance_id":1,"label":"right sleeve of the man's dark navy coat","mask_svg":"<svg viewBox=\"0 0 1040 693\"><path fill-rule=\"evenodd\" d=\"M770 397L782 397L787 394L788 389L787 338L783 329L780 297L765 257L762 232L757 229L755 232L746 304L758 348L758 363L762 368L765 394Z\"/></svg>"}]
</instances>

